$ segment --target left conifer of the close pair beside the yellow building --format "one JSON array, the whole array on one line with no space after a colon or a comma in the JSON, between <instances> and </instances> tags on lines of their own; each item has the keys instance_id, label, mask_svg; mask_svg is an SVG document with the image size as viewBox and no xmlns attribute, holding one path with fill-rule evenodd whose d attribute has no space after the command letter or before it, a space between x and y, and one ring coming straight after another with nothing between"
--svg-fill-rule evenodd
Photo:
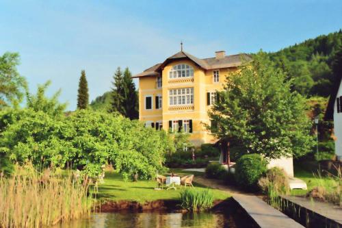
<instances>
[{"instance_id":1,"label":"left conifer of the close pair beside the yellow building","mask_svg":"<svg viewBox=\"0 0 342 228\"><path fill-rule=\"evenodd\" d=\"M116 69L113 79L114 81L112 82L113 88L111 90L112 101L110 112L120 112L122 115L126 116L124 107L122 106L124 100L124 88L122 71L120 67Z\"/></svg>"}]
</instances>

